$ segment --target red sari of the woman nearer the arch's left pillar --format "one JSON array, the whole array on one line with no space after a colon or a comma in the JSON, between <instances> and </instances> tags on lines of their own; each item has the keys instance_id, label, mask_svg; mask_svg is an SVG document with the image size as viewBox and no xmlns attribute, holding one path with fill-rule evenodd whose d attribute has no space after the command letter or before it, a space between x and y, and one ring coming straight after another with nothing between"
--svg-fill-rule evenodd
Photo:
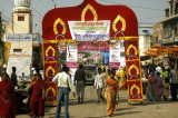
<instances>
[{"instance_id":1,"label":"red sari of the woman nearer the arch's left pillar","mask_svg":"<svg viewBox=\"0 0 178 118\"><path fill-rule=\"evenodd\" d=\"M42 88L44 87L44 81L36 81L32 86L32 95L30 98L30 115L34 115L37 117L44 116L44 100L42 99Z\"/></svg>"}]
</instances>

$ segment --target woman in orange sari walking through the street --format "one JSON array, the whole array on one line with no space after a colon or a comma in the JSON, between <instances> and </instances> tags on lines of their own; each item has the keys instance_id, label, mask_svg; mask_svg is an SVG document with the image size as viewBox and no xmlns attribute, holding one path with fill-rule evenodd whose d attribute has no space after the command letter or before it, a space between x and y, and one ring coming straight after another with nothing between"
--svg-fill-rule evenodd
<instances>
[{"instance_id":1,"label":"woman in orange sari walking through the street","mask_svg":"<svg viewBox=\"0 0 178 118\"><path fill-rule=\"evenodd\" d=\"M106 85L103 88L103 95L105 95L105 90L107 88L107 101L108 101L108 116L111 117L113 111L115 111L115 107L117 105L116 101L116 96L119 94L119 82L118 80L115 79L115 72L111 71L109 75L109 78L107 78L106 80Z\"/></svg>"}]
</instances>

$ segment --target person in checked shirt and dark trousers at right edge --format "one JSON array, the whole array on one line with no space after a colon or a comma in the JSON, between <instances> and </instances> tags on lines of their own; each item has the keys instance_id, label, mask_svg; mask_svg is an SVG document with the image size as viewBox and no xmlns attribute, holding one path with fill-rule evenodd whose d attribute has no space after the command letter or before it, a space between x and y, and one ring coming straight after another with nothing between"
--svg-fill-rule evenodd
<instances>
[{"instance_id":1,"label":"person in checked shirt and dark trousers at right edge","mask_svg":"<svg viewBox=\"0 0 178 118\"><path fill-rule=\"evenodd\" d=\"M178 71L177 71L177 66L175 66L170 71L171 101L177 101L177 86L178 86Z\"/></svg>"}]
</instances>

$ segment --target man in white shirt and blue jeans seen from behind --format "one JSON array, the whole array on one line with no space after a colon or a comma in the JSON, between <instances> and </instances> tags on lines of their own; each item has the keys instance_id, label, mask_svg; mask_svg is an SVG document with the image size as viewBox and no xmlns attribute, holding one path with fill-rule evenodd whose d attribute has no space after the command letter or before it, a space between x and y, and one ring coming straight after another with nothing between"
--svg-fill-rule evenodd
<instances>
[{"instance_id":1,"label":"man in white shirt and blue jeans seen from behind","mask_svg":"<svg viewBox=\"0 0 178 118\"><path fill-rule=\"evenodd\" d=\"M69 112L68 112L69 88L73 92L73 97L76 97L75 90L71 85L70 76L68 75L68 70L69 70L68 67L63 66L62 71L57 73L52 79L53 82L58 83L58 106L57 106L56 118L60 118L62 98L65 100L65 118L69 118Z\"/></svg>"}]
</instances>

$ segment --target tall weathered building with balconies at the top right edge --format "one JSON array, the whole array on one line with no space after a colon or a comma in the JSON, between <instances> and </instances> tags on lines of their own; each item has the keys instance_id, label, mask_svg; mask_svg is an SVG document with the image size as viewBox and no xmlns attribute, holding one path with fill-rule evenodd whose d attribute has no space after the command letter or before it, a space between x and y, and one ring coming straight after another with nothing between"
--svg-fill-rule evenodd
<instances>
[{"instance_id":1,"label":"tall weathered building with balconies at the top right edge","mask_svg":"<svg viewBox=\"0 0 178 118\"><path fill-rule=\"evenodd\" d=\"M160 43L166 47L178 46L178 0L169 0L169 8L165 10L162 23L162 40Z\"/></svg>"}]
</instances>

